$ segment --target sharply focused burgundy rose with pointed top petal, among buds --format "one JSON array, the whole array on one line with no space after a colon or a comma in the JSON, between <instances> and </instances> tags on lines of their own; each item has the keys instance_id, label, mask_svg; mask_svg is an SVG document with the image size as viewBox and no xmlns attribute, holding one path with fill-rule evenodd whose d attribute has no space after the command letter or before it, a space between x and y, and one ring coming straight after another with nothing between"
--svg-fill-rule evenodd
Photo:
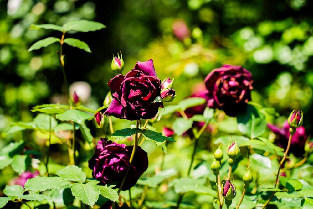
<instances>
[{"instance_id":1,"label":"sharply focused burgundy rose with pointed top petal, among buds","mask_svg":"<svg viewBox=\"0 0 313 209\"><path fill-rule=\"evenodd\" d=\"M107 116L127 120L151 119L163 107L162 102L153 102L161 92L161 81L156 76L153 60L137 62L125 76L119 74L109 83L113 100L104 112ZM151 103L153 102L153 103Z\"/></svg>"}]
</instances>

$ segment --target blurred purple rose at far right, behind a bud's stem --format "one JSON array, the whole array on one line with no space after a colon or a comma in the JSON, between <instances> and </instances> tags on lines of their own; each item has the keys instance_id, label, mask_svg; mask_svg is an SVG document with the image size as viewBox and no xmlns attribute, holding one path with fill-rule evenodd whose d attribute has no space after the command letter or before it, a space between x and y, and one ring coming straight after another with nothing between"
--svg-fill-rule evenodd
<instances>
[{"instance_id":1,"label":"blurred purple rose at far right, behind a bud's stem","mask_svg":"<svg viewBox=\"0 0 313 209\"><path fill-rule=\"evenodd\" d=\"M275 133L277 145L283 149L287 149L288 139L290 136L289 128L290 125L286 120L282 128L278 128L275 125L267 124L267 127ZM304 154L304 146L307 135L305 134L305 128L300 126L296 128L296 132L292 135L291 144L288 153L293 153L295 156L301 156Z\"/></svg>"}]
</instances>

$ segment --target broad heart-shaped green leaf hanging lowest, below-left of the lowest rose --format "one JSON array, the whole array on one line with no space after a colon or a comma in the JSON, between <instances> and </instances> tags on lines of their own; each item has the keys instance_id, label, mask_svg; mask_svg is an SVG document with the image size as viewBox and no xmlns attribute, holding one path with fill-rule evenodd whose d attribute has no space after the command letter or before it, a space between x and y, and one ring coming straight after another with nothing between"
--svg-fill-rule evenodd
<instances>
[{"instance_id":1,"label":"broad heart-shaped green leaf hanging lowest, below-left of the lowest rose","mask_svg":"<svg viewBox=\"0 0 313 209\"><path fill-rule=\"evenodd\" d=\"M99 188L93 181L86 184L75 183L72 186L72 194L77 199L89 206L93 206L99 198Z\"/></svg>"}]
</instances>

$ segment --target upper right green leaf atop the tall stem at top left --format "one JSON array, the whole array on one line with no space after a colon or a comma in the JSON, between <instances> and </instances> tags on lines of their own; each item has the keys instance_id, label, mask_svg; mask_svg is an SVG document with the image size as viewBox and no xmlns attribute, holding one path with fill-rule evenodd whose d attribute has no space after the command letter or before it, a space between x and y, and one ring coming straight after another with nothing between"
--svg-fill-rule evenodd
<instances>
[{"instance_id":1,"label":"upper right green leaf atop the tall stem at top left","mask_svg":"<svg viewBox=\"0 0 313 209\"><path fill-rule=\"evenodd\" d=\"M64 31L88 32L105 28L102 23L88 20L71 20L62 26Z\"/></svg>"}]
</instances>

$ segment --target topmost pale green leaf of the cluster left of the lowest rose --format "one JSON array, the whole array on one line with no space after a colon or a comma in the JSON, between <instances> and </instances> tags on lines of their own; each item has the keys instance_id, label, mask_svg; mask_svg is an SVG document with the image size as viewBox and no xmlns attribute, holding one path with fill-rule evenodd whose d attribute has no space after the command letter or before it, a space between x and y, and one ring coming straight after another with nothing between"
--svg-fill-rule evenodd
<instances>
[{"instance_id":1,"label":"topmost pale green leaf of the cluster left of the lowest rose","mask_svg":"<svg viewBox=\"0 0 313 209\"><path fill-rule=\"evenodd\" d=\"M68 165L64 169L57 170L57 175L68 181L84 183L86 174L75 165Z\"/></svg>"}]
</instances>

